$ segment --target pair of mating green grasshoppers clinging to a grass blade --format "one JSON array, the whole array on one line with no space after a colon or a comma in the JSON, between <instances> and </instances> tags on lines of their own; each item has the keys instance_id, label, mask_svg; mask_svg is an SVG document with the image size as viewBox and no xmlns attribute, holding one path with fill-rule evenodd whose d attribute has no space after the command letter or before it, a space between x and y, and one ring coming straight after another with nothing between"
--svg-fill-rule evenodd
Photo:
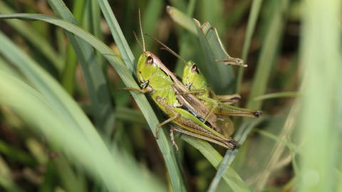
<instances>
[{"instance_id":1,"label":"pair of mating green grasshoppers clinging to a grass blade","mask_svg":"<svg viewBox=\"0 0 342 192\"><path fill-rule=\"evenodd\" d=\"M155 101L162 112L169 116L169 119L157 124L155 137L158 137L158 131L162 125L174 122L182 127L171 127L170 129L172 144L176 149L177 144L173 139L174 131L219 144L227 149L235 149L238 143L230 137L234 126L227 115L259 117L261 112L227 104L239 99L239 95L230 95L228 97L214 95L214 92L209 90L207 82L202 73L199 72L197 65L191 61L185 62L183 82L180 82L156 55L145 50L140 11L139 21L143 53L137 63L137 76L142 89L126 87L125 90L149 92L152 100ZM167 49L170 50L170 48ZM172 53L174 52L172 51Z\"/></svg>"}]
</instances>

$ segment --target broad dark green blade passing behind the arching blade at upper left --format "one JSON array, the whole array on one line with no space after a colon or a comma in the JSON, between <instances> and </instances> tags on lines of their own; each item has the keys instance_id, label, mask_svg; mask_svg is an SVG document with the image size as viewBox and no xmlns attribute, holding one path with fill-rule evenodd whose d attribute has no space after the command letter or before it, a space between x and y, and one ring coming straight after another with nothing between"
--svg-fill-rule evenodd
<instances>
[{"instance_id":1,"label":"broad dark green blade passing behind the arching blade at upper left","mask_svg":"<svg viewBox=\"0 0 342 192\"><path fill-rule=\"evenodd\" d=\"M71 11L68 10L63 1L56 0L48 2L58 16L66 19L66 21L77 24ZM114 126L113 107L110 102L108 85L100 65L95 58L95 52L88 43L82 41L80 38L73 36L71 33L67 33L67 36L81 64L92 104L91 106L93 107L96 127L109 132Z\"/></svg>"}]
</instances>

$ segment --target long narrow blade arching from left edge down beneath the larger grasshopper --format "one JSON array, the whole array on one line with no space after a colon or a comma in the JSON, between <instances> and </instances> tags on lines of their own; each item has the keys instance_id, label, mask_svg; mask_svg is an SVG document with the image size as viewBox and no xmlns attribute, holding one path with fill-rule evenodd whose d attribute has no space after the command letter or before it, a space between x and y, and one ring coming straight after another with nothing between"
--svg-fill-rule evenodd
<instances>
[{"instance_id":1,"label":"long narrow blade arching from left edge down beneath the larger grasshopper","mask_svg":"<svg viewBox=\"0 0 342 192\"><path fill-rule=\"evenodd\" d=\"M123 62L117 56L113 55L113 51L108 46L105 46L103 42L98 41L97 38L92 36L90 33L83 31L78 26L74 26L72 23L62 21L58 18L43 16L39 14L0 15L0 18L31 18L46 21L48 23L53 23L56 26L61 26L67 31L74 33L76 36L82 38L84 41L88 42L91 46L97 49L110 62L110 64L117 71L118 75L120 75L120 78L123 80L127 87L139 88L132 76L132 73L128 71ZM152 110L152 107L147 102L145 95L136 92L131 92L131 94L135 99L135 102L137 102L138 107L142 111L142 114L144 114L145 119L147 119L147 123L149 124L150 129L155 134L155 127L157 126L157 124L159 124L159 122ZM180 191L185 191L184 181L182 181L182 174L180 174L180 169L177 164L177 160L175 159L174 149L162 129L159 132L159 139L157 139L157 144L160 147L160 151L162 152L162 155L165 159L165 164L170 174L172 186L176 189L179 188Z\"/></svg>"}]
</instances>

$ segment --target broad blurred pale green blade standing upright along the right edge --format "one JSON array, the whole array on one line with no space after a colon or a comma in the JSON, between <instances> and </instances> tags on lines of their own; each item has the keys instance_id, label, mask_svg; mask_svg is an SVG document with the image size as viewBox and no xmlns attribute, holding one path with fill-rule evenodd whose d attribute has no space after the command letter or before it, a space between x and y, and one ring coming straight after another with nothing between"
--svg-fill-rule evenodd
<instances>
[{"instance_id":1,"label":"broad blurred pale green blade standing upright along the right edge","mask_svg":"<svg viewBox=\"0 0 342 192\"><path fill-rule=\"evenodd\" d=\"M341 1L303 2L298 191L337 191L341 184L334 174L341 164L341 7Z\"/></svg>"}]
</instances>

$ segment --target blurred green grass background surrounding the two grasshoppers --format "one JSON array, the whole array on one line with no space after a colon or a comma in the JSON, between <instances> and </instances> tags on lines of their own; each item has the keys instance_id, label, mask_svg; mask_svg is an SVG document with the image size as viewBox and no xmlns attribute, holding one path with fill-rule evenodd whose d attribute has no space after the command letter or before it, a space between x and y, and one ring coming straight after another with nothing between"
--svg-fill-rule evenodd
<instances>
[{"instance_id":1,"label":"blurred green grass background surrounding the two grasshoppers","mask_svg":"<svg viewBox=\"0 0 342 192\"><path fill-rule=\"evenodd\" d=\"M0 191L342 191L341 6L0 1ZM149 97L119 90L138 87L138 9L144 33L198 63L215 92L263 111L232 118L238 150L177 134L176 152L169 126L155 140L165 117ZM210 60L222 50L191 18L248 67ZM180 60L145 43L182 76Z\"/></svg>"}]
</instances>

